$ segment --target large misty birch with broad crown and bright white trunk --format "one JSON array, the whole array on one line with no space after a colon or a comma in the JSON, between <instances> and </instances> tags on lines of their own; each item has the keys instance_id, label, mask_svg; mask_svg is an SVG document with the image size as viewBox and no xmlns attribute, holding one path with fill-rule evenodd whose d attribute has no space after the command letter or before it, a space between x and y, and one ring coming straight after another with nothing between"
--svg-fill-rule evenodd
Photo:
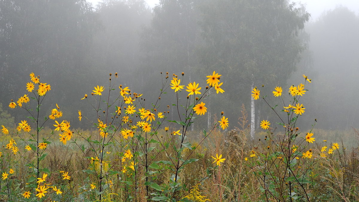
<instances>
[{"instance_id":1,"label":"large misty birch with broad crown and bright white trunk","mask_svg":"<svg viewBox=\"0 0 359 202\"><path fill-rule=\"evenodd\" d=\"M299 53L304 50L297 34L304 28L309 14L301 13L301 8L294 3L213 0L202 5L201 10L204 14L202 35L206 42L200 48L201 62L228 75L230 81L226 85L233 86L237 95L248 96L258 84L274 86L295 70ZM237 96L232 100L238 103L243 99ZM255 114L259 113L251 98L252 138Z\"/></svg>"}]
</instances>

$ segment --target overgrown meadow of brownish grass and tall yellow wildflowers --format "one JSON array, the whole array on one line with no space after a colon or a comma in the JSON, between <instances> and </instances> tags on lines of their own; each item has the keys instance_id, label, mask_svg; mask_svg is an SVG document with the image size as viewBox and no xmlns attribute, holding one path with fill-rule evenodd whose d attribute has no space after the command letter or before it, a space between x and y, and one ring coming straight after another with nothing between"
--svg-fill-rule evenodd
<instances>
[{"instance_id":1,"label":"overgrown meadow of brownish grass and tall yellow wildflowers","mask_svg":"<svg viewBox=\"0 0 359 202\"><path fill-rule=\"evenodd\" d=\"M359 155L354 140L359 131L317 129L314 118L311 129L302 131L297 119L308 110L305 96L315 85L306 75L299 75L303 83L298 86L267 89L260 84L248 92L254 102L267 103L276 115L273 119L281 120L261 121L253 139L244 105L239 105L237 120L228 120L223 106L213 116L210 130L191 130L207 113L205 103L228 93L218 72L204 75L206 84L183 83L184 72L161 76L158 99L146 100L141 92L119 85L117 73L109 74L106 85L94 86L79 99L94 113L79 110L76 119L92 126L74 128L72 120L62 119L65 106L53 102L51 111L42 111L51 80L31 72L18 92L21 97L11 100L7 109L10 114L27 111L28 116L16 126L0 123L1 198L357 201ZM177 102L162 103L164 94ZM269 96L278 103L269 104ZM168 118L172 108L174 120Z\"/></svg>"}]
</instances>

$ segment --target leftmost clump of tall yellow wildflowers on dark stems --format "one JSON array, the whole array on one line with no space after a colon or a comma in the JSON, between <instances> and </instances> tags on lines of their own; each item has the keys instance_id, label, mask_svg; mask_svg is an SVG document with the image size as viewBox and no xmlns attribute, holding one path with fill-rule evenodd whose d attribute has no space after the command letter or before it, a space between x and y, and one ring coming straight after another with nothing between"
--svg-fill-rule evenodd
<instances>
[{"instance_id":1,"label":"leftmost clump of tall yellow wildflowers on dark stems","mask_svg":"<svg viewBox=\"0 0 359 202\"><path fill-rule=\"evenodd\" d=\"M36 76L33 72L31 72L29 76L30 81L26 84L27 92L21 96L16 103L11 100L9 104L9 107L12 109L21 108L27 111L28 116L18 123L14 131L9 131L5 126L2 126L2 132L5 135L14 135L15 140L18 139L23 143L20 145L24 145L24 147L21 146L21 148L19 148L20 146L17 146L17 142L13 138L11 138L9 144L6 145L6 151L11 152L4 152L6 155L1 155L3 158L1 159L1 170L3 174L0 186L3 182L5 182L5 185L1 186L0 194L8 195L10 201L14 200L13 197L16 192L11 190L11 184L13 183L11 175L15 175L16 169L18 168L16 163L20 160L24 160L27 162L25 166L28 168L27 172L29 175L25 183L25 191L22 193L23 197L27 199L29 197L38 197L41 199L42 197L47 198L47 195L51 193L53 195L52 198L60 199L62 191L57 187L62 186L63 189L65 182L58 184L57 187L55 185L49 186L50 183L46 181L50 170L44 166L45 164L43 164L42 161L48 155L46 149L48 145L51 144L51 142L48 141L49 138L51 138L56 131L59 131L59 129L61 129L61 131L68 131L70 122L64 120L58 123L55 120L62 117L62 111L57 104L53 105L53 109L50 112L40 110L46 95L50 93L51 85L42 83L43 81L40 79L40 76ZM49 124L51 120L55 120L57 130L52 131L51 134L43 134L41 130L46 124ZM71 138L72 133L68 135L69 138ZM16 162L11 165L12 161ZM6 172L7 169L9 169L8 172ZM60 175L60 173L57 174ZM66 172L65 175L66 179L70 179L68 172Z\"/></svg>"}]
</instances>

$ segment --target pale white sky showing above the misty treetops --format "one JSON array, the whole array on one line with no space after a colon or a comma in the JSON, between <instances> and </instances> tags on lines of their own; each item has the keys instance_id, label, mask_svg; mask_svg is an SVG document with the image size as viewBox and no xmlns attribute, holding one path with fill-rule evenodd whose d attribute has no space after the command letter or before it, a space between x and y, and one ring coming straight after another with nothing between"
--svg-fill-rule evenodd
<instances>
[{"instance_id":1,"label":"pale white sky showing above the misty treetops","mask_svg":"<svg viewBox=\"0 0 359 202\"><path fill-rule=\"evenodd\" d=\"M95 6L101 0L87 0ZM316 20L320 15L327 10L332 10L338 5L345 6L349 10L359 14L359 0L293 0L294 2L301 2L306 4L307 11L312 14L311 20ZM147 4L153 8L158 4L159 0L146 0Z\"/></svg>"}]
</instances>

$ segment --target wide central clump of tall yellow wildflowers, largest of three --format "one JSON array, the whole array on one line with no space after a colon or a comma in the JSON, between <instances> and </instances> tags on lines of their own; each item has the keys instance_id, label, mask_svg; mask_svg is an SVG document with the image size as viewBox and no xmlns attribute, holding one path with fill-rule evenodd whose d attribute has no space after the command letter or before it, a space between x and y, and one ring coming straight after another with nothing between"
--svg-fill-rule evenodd
<instances>
[{"instance_id":1,"label":"wide central clump of tall yellow wildflowers, largest of three","mask_svg":"<svg viewBox=\"0 0 359 202\"><path fill-rule=\"evenodd\" d=\"M215 128L228 127L228 119L221 112L220 121L209 132L203 130L202 140L192 146L187 139L189 127L197 116L207 112L204 103L206 97L224 93L221 88L223 83L219 82L221 75L213 72L213 75L207 76L208 86L200 87L196 82L186 86L182 85L184 72L181 75L179 78L173 74L171 80L168 72L161 72L162 86L158 99L150 105L143 98L143 94L132 92L127 86L116 85L117 73L114 76L109 74L107 87L95 86L90 96L85 94L82 98L94 109L96 119L81 114L80 110L79 119L90 121L97 127L98 134L88 137L80 131L74 131L87 145L81 145L77 139L73 142L84 154L87 148L94 154L86 157L89 168L83 172L88 173L93 180L89 188L97 194L100 201L104 198L118 199L112 189L114 182L121 183L121 189L127 193L122 200L137 201L145 198L154 201L178 201L207 179L225 160L222 155L213 157L214 163L217 162L216 166L208 168L206 176L198 179L198 183L192 187L187 187L185 180L181 180L180 173L185 166L198 160L190 158L196 148ZM161 96L167 91L173 93L176 103L162 107ZM116 99L110 99L112 94L116 95ZM170 107L176 109L176 120L168 119L170 112L166 110ZM172 132L169 130L169 122L177 125L172 128ZM168 139L159 135L163 133ZM64 138L63 142L66 143L66 140ZM188 155L183 153L186 148L191 150ZM164 176L168 177L166 183L163 182Z\"/></svg>"}]
</instances>

